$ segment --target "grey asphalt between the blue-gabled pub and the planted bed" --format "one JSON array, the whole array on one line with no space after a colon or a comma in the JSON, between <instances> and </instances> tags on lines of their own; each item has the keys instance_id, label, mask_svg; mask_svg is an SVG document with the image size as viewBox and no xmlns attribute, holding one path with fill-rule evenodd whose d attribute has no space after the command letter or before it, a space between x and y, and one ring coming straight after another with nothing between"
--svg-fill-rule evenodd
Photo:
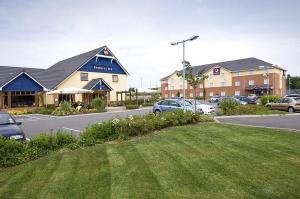
<instances>
[{"instance_id":1,"label":"grey asphalt between the blue-gabled pub and the planted bed","mask_svg":"<svg viewBox=\"0 0 300 199\"><path fill-rule=\"evenodd\" d=\"M144 115L152 108L138 110L124 110L88 115L76 115L67 117L53 117L44 115L15 116L15 120L22 122L20 126L27 137L32 138L39 133L51 133L59 130L69 131L79 135L88 125L107 121L113 118L124 118L129 115Z\"/></svg>"}]
</instances>

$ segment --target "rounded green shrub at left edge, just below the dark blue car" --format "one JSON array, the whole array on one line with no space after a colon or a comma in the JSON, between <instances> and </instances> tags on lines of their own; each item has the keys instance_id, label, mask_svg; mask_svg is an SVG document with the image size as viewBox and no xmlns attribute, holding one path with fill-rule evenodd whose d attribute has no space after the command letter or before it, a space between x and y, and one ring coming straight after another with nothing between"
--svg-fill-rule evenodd
<instances>
[{"instance_id":1,"label":"rounded green shrub at left edge, just below the dark blue car","mask_svg":"<svg viewBox=\"0 0 300 199\"><path fill-rule=\"evenodd\" d=\"M0 136L0 167L9 167L24 162L24 144Z\"/></svg>"}]
</instances>

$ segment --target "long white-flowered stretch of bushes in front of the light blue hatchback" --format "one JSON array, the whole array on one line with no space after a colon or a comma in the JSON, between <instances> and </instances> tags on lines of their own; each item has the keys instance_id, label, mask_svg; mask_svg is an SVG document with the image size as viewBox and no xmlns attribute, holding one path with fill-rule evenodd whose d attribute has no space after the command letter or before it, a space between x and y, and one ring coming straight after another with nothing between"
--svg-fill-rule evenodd
<instances>
[{"instance_id":1,"label":"long white-flowered stretch of bushes in front of the light blue hatchback","mask_svg":"<svg viewBox=\"0 0 300 199\"><path fill-rule=\"evenodd\" d=\"M108 122L91 125L81 134L80 139L81 142L88 141L95 144L97 142L141 136L170 126L211 121L213 119L209 116L182 110L162 113L158 116L152 113L144 116L129 116L125 119L115 118Z\"/></svg>"}]
</instances>

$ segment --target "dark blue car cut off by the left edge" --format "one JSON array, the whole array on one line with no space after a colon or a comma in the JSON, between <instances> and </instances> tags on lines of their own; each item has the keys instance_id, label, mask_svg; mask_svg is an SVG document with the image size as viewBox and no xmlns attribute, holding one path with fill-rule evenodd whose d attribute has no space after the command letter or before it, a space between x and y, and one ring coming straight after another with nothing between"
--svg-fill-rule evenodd
<instances>
[{"instance_id":1,"label":"dark blue car cut off by the left edge","mask_svg":"<svg viewBox=\"0 0 300 199\"><path fill-rule=\"evenodd\" d=\"M21 122L16 122L11 115L5 111L0 111L0 135L7 139L26 140L25 134L19 127Z\"/></svg>"}]
</instances>

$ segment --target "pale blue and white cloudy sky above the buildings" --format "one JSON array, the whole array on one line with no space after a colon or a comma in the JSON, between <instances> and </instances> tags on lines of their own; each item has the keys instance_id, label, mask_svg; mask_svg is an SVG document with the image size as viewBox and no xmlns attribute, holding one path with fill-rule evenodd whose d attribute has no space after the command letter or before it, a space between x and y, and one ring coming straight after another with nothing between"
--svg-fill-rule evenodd
<instances>
[{"instance_id":1,"label":"pale blue and white cloudy sky above the buildings","mask_svg":"<svg viewBox=\"0 0 300 199\"><path fill-rule=\"evenodd\" d=\"M130 87L192 65L256 57L300 76L298 0L0 0L0 65L48 68L107 45Z\"/></svg>"}]
</instances>

